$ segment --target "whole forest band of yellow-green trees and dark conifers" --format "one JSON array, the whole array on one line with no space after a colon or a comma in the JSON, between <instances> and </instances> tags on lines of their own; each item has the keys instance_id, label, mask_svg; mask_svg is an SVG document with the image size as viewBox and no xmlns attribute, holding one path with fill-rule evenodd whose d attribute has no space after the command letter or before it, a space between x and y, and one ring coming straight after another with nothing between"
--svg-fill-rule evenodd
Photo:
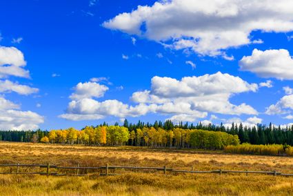
<instances>
[{"instance_id":1,"label":"whole forest band of yellow-green trees and dark conifers","mask_svg":"<svg viewBox=\"0 0 293 196\"><path fill-rule=\"evenodd\" d=\"M225 128L223 124L174 124L170 120L155 121L154 124L142 121L132 124L125 119L121 126L118 123L109 126L104 122L98 126L86 126L81 130L1 130L0 141L222 149L238 142L293 146L292 131L293 126L281 128L272 124L247 127L233 123L231 128Z\"/></svg>"}]
</instances>

